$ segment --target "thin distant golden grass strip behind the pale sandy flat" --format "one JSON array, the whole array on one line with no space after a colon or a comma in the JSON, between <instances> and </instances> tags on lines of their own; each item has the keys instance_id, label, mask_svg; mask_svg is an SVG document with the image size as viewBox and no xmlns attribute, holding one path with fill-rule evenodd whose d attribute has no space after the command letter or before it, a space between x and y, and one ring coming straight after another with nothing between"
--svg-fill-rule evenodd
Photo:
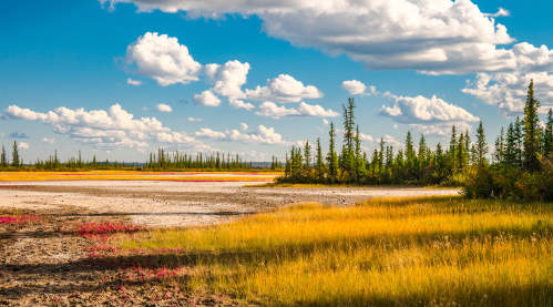
<instances>
[{"instance_id":1,"label":"thin distant golden grass strip behind the pale sandy flat","mask_svg":"<svg viewBox=\"0 0 553 307\"><path fill-rule=\"evenodd\" d=\"M219 172L217 172L219 173ZM279 173L221 172L233 176L214 176L214 172L141 172L141 171L86 171L86 172L0 172L0 182L25 181L182 181L182 182L257 182L273 181ZM171 174L171 175L168 175ZM191 174L199 174L190 176Z\"/></svg>"}]
</instances>

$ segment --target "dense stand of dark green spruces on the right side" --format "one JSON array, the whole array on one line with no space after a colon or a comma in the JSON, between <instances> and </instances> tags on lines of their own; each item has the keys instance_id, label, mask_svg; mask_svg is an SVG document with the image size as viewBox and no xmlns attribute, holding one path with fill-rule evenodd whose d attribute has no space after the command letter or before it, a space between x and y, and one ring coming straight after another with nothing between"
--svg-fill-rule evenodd
<instances>
[{"instance_id":1,"label":"dense stand of dark green spruces on the right side","mask_svg":"<svg viewBox=\"0 0 553 307\"><path fill-rule=\"evenodd\" d=\"M465 194L473 197L551 197L547 196L551 192L546 190L553 191L553 115L550 110L545 126L540 126L540 102L534 98L533 81L528 90L524 117L516 117L506 133L502 129L491 161L482 122L478 125L474 140L471 140L469 131L458 131L453 125L449 144L438 143L432 150L427 145L423 134L416 146L411 132L408 132L402 149L395 149L380 139L369 156L361 149L355 106L352 98L342 106L344 134L339 151L336 129L330 123L326 154L322 153L320 139L314 145L308 141L303 146L294 145L286 155L285 175L278 181L358 185L461 185L464 186ZM534 188L534 196L537 197L522 195L523 186L530 185L532 181L541 181L536 184L537 190Z\"/></svg>"}]
</instances>

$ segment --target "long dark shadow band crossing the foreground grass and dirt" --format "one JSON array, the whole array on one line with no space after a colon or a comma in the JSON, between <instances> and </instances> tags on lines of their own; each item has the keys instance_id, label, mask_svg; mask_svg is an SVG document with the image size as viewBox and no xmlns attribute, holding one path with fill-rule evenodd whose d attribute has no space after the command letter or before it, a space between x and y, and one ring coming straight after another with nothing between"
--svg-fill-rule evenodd
<instances>
[{"instance_id":1,"label":"long dark shadow band crossing the foreground grass and dirt","mask_svg":"<svg viewBox=\"0 0 553 307\"><path fill-rule=\"evenodd\" d=\"M248 264L256 266L259 263L278 263L283 259L295 257L307 257L315 252L326 249L346 250L347 248L370 248L378 246L395 250L398 247L404 248L410 245L428 245L433 242L441 242L446 237L451 243L460 243L464 239L491 238L509 235L510 239L522 239L530 237L550 238L553 234L551 225L536 223L529 228L501 227L485 231L473 229L463 232L429 232L413 235L393 235L393 236L367 236L362 238L332 238L315 243L304 244L280 244L272 247L247 247L240 249L223 249L221 252L174 252L152 254L131 254L122 256L104 256L99 258L83 258L76 262L63 264L7 264L0 266L1 269L19 272L20 274L37 274L43 270L48 272L88 272L88 270L110 270L130 267L166 267L175 268L181 266L194 267L197 265L217 264L233 267L237 264ZM129 249L132 253L132 249ZM146 250L147 252L147 250Z\"/></svg>"}]
</instances>

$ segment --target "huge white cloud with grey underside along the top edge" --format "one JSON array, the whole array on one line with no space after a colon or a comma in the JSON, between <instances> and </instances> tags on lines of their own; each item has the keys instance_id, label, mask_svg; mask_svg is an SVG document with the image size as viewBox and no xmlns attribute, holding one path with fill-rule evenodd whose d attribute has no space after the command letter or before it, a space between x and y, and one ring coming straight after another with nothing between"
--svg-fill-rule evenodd
<instances>
[{"instance_id":1,"label":"huge white cloud with grey underside along the top edge","mask_svg":"<svg viewBox=\"0 0 553 307\"><path fill-rule=\"evenodd\" d=\"M493 18L506 11L488 14L470 0L101 1L133 2L140 11L186 11L190 17L256 14L269 35L347 54L370 69L469 73L513 65L512 52L496 47L513 41Z\"/></svg>"}]
</instances>

